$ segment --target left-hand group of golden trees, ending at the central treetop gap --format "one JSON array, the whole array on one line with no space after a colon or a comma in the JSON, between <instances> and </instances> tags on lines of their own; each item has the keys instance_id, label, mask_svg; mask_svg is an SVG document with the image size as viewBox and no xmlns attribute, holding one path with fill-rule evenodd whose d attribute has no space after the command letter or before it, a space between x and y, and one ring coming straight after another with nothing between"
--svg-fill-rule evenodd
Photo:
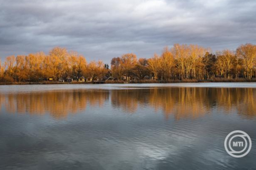
<instances>
[{"instance_id":1,"label":"left-hand group of golden trees, ending at the central treetop gap","mask_svg":"<svg viewBox=\"0 0 256 170\"><path fill-rule=\"evenodd\" d=\"M7 82L48 80L78 80L82 76L95 80L108 70L102 61L86 62L83 55L65 48L55 47L48 55L43 52L6 57L0 65L0 80ZM45 79L43 79L45 78Z\"/></svg>"}]
</instances>

